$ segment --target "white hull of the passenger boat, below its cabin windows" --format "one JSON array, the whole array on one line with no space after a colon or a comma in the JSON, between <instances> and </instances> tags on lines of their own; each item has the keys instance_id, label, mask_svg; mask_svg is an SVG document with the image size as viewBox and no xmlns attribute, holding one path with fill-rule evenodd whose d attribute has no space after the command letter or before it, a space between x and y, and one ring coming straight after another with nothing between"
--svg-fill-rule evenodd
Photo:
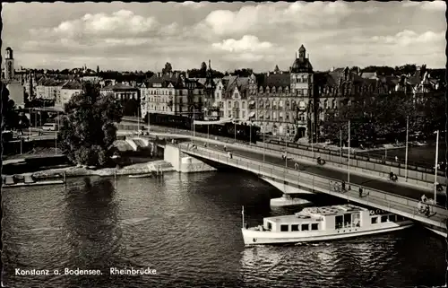
<instances>
[{"instance_id":1,"label":"white hull of the passenger boat, below its cabin windows","mask_svg":"<svg viewBox=\"0 0 448 288\"><path fill-rule=\"evenodd\" d=\"M385 232L400 231L413 226L411 221L402 223L388 223L387 226L381 228L369 227L363 229L345 228L332 231L297 231L297 232L271 232L271 231L254 231L250 229L242 229L243 240L246 246L266 245L266 244L293 244L299 242L319 242L327 240L340 240L346 238L354 238L359 236L373 235Z\"/></svg>"}]
</instances>

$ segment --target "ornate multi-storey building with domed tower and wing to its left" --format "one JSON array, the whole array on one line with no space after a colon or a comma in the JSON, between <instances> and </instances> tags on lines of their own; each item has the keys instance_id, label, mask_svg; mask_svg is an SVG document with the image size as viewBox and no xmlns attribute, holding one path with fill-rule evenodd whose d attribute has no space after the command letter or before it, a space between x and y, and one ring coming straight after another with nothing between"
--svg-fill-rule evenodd
<instances>
[{"instance_id":1,"label":"ornate multi-storey building with domed tower and wing to its left","mask_svg":"<svg viewBox=\"0 0 448 288\"><path fill-rule=\"evenodd\" d=\"M309 138L315 122L314 72L303 45L289 73L276 69L261 75L256 92L255 123L262 132L288 140Z\"/></svg>"}]
</instances>

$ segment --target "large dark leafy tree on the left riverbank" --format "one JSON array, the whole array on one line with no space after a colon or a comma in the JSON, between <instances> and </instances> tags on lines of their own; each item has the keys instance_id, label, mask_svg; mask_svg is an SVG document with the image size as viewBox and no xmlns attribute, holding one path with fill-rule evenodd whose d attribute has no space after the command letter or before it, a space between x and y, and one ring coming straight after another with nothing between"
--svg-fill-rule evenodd
<instances>
[{"instance_id":1,"label":"large dark leafy tree on the left riverbank","mask_svg":"<svg viewBox=\"0 0 448 288\"><path fill-rule=\"evenodd\" d=\"M82 92L65 105L65 112L57 135L63 153L77 164L104 165L116 140L115 122L122 118L119 102L85 83Z\"/></svg>"}]
</instances>

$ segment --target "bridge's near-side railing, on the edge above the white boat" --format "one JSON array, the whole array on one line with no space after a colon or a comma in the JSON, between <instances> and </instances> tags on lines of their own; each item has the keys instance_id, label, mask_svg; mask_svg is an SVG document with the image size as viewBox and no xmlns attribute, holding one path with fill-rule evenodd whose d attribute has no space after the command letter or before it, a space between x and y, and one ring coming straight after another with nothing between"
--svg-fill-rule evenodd
<instances>
[{"instance_id":1,"label":"bridge's near-side railing, on the edge above the white boat","mask_svg":"<svg viewBox=\"0 0 448 288\"><path fill-rule=\"evenodd\" d=\"M194 153L206 159L217 160L245 170L250 170L259 175L265 175L274 179L297 181L300 182L300 184L308 185L311 188L320 188L325 191L325 193L340 196L340 192L334 191L334 187L340 183L340 179L332 179L320 175L314 175L308 172L305 173L300 170L292 170L284 166L263 161L256 161L239 155L229 158L226 153L218 151L211 152L210 150L203 149L202 147L198 147L194 150L187 150L186 152ZM370 203L372 205L383 205L389 208L397 209L399 211L407 212L414 215L415 217L419 216L419 201L417 199L405 196L396 196L388 192L375 190L373 188L366 188L353 183L347 183L346 186L350 189L342 193L344 195L347 195L348 198L349 196L357 197L359 188L362 188L364 195L362 199L367 203ZM432 204L428 205L431 206L431 211L433 213L436 213L438 217L443 217L444 219L448 217L448 211L444 207ZM421 217L423 217L423 215ZM435 221L435 223L439 224L440 221Z\"/></svg>"}]
</instances>

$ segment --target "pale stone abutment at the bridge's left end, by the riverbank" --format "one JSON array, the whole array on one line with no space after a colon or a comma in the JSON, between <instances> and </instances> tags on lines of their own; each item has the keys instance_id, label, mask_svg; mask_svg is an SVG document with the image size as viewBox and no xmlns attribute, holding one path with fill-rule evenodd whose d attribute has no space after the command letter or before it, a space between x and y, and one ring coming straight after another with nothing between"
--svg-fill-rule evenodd
<instances>
[{"instance_id":1,"label":"pale stone abutment at the bridge's left end, by the riverbank","mask_svg":"<svg viewBox=\"0 0 448 288\"><path fill-rule=\"evenodd\" d=\"M181 152L179 147L173 144L165 145L163 159L173 165L177 172L194 173L216 170L209 164Z\"/></svg>"}]
</instances>

